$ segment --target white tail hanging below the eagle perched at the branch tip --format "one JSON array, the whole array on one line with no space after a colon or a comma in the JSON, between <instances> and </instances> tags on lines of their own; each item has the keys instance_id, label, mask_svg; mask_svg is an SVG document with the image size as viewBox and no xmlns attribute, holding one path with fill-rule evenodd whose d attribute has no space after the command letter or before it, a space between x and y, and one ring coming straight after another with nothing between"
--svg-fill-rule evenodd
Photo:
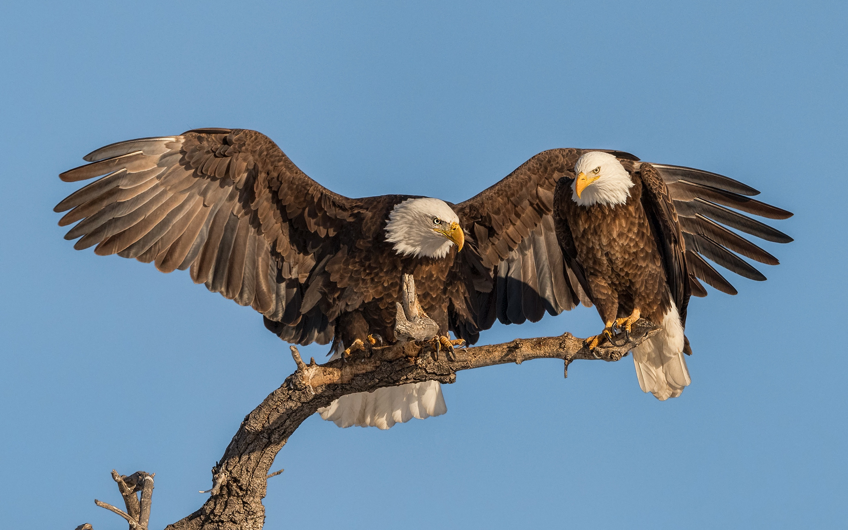
<instances>
[{"instance_id":1,"label":"white tail hanging below the eagle perched at the branch tip","mask_svg":"<svg viewBox=\"0 0 848 530\"><path fill-rule=\"evenodd\" d=\"M661 331L633 348L633 364L642 392L665 401L677 398L689 386L692 379L683 359L685 342L678 308L672 302L662 318Z\"/></svg>"}]
</instances>

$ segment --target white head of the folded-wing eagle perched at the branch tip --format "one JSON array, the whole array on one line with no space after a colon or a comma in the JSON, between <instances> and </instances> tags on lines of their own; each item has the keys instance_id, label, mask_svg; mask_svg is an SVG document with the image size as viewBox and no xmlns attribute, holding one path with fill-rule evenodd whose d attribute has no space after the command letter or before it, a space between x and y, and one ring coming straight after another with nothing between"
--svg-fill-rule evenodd
<instances>
[{"instance_id":1,"label":"white head of the folded-wing eagle perched at the branch tip","mask_svg":"<svg viewBox=\"0 0 848 530\"><path fill-rule=\"evenodd\" d=\"M580 206L624 204L630 197L628 171L610 153L590 151L574 165L577 178L572 184L572 200Z\"/></svg>"}]
</instances>

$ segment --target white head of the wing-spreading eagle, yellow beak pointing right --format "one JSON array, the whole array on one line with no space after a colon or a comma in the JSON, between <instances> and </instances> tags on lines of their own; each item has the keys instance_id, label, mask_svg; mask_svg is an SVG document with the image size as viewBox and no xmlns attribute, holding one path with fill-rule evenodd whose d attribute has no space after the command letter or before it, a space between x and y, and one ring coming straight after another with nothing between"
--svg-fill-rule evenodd
<instances>
[{"instance_id":1,"label":"white head of the wing-spreading eagle, yellow beak pointing right","mask_svg":"<svg viewBox=\"0 0 848 530\"><path fill-rule=\"evenodd\" d=\"M386 241L404 256L444 258L450 246L461 250L465 236L456 212L438 198L408 198L388 215Z\"/></svg>"}]
</instances>

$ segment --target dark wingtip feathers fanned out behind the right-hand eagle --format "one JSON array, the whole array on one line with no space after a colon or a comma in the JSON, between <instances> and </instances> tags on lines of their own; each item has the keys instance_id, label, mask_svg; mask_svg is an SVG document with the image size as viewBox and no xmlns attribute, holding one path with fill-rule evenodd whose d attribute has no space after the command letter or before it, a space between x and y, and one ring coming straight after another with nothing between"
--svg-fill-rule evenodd
<instances>
[{"instance_id":1,"label":"dark wingtip feathers fanned out behind the right-hand eagle","mask_svg":"<svg viewBox=\"0 0 848 530\"><path fill-rule=\"evenodd\" d=\"M722 225L767 241L789 243L792 238L784 232L734 210L769 219L787 219L792 216L791 212L750 198L759 192L716 173L677 165L643 163L640 170L643 181L646 170L651 175L659 174L667 187L667 198L672 199L672 209L678 218L679 231L685 243L692 294L706 296L706 289L698 279L723 293L737 293L734 286L704 258L711 259L739 276L757 281L765 280L766 276L739 258L737 253L760 263L778 265L778 259L772 254ZM663 199L664 203L667 198Z\"/></svg>"}]
</instances>

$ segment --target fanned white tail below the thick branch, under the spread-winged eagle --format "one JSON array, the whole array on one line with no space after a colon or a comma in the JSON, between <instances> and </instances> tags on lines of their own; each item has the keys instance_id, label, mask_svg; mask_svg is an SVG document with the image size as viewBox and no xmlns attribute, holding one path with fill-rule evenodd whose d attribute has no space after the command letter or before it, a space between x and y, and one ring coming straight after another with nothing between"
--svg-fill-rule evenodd
<instances>
[{"instance_id":1,"label":"fanned white tail below the thick branch, under the spread-winged eagle","mask_svg":"<svg viewBox=\"0 0 848 530\"><path fill-rule=\"evenodd\" d=\"M351 393L318 409L321 418L338 427L391 428L412 418L423 420L448 411L438 381L416 382L374 392Z\"/></svg>"}]
</instances>

